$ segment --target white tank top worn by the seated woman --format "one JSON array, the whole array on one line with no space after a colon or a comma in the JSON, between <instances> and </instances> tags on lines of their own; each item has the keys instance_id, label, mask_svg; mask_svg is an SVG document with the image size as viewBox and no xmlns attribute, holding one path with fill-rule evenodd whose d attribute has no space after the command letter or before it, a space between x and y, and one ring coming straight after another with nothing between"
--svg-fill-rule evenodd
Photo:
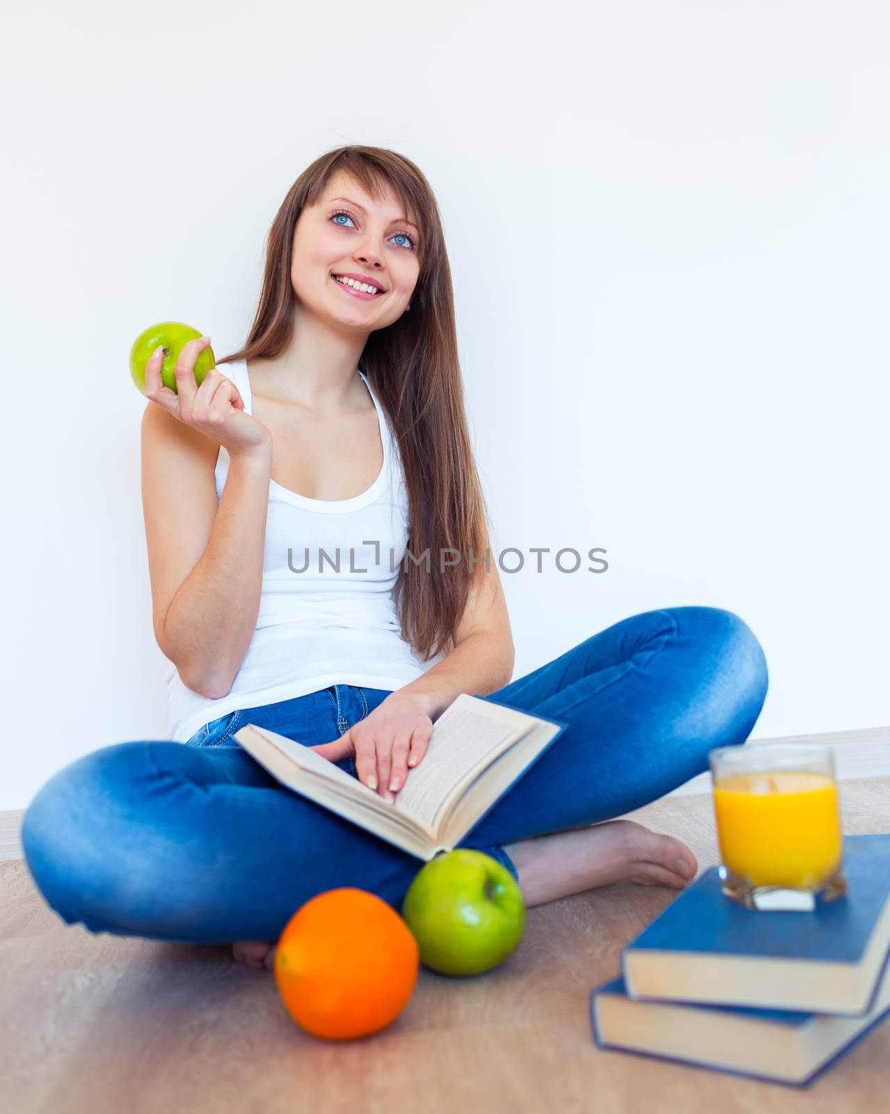
<instances>
[{"instance_id":1,"label":"white tank top worn by the seated woman","mask_svg":"<svg viewBox=\"0 0 890 1114\"><path fill-rule=\"evenodd\" d=\"M246 362L222 364L221 371L252 414ZM270 480L260 614L247 653L232 690L218 700L192 692L169 663L168 739L185 743L198 727L229 712L333 684L392 692L443 658L439 654L422 662L401 636L393 586L408 545L408 489L387 414L364 372L359 375L380 422L380 475L361 495L334 500L309 499ZM228 462L221 446L217 499Z\"/></svg>"}]
</instances>

